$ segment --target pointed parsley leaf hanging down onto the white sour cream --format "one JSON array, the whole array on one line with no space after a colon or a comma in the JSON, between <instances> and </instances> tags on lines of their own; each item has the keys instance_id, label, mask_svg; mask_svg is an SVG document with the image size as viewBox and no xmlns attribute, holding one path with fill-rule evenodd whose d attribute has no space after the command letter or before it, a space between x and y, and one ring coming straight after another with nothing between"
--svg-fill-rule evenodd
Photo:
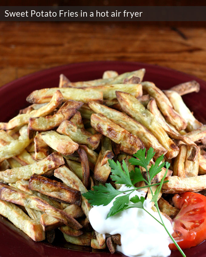
<instances>
[{"instance_id":1,"label":"pointed parsley leaf hanging down onto the white sour cream","mask_svg":"<svg viewBox=\"0 0 206 257\"><path fill-rule=\"evenodd\" d=\"M109 213L107 214L107 218L127 209L129 203L129 194L125 194L123 196L119 196L113 202L113 206L111 207Z\"/></svg>"}]
</instances>

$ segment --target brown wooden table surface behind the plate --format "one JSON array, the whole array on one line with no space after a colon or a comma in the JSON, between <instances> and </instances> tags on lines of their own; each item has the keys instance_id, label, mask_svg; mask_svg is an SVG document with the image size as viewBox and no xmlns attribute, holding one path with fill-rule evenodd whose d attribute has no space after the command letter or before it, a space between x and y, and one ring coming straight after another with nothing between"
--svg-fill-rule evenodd
<instances>
[{"instance_id":1,"label":"brown wooden table surface behind the plate","mask_svg":"<svg viewBox=\"0 0 206 257\"><path fill-rule=\"evenodd\" d=\"M206 80L205 40L204 27L0 22L0 86L38 70L95 60L158 64Z\"/></svg>"}]
</instances>

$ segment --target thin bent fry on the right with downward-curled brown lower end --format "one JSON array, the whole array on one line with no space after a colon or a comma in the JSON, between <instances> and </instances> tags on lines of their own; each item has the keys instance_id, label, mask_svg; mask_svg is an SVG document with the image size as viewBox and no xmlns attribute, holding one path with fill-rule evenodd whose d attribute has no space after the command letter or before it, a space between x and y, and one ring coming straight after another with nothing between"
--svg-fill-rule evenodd
<instances>
[{"instance_id":1,"label":"thin bent fry on the right with downward-curled brown lower end","mask_svg":"<svg viewBox=\"0 0 206 257\"><path fill-rule=\"evenodd\" d=\"M198 147L197 145L188 137L180 135L172 125L169 125L164 117L162 116L161 112L159 111L156 101L154 98L150 99L147 106L148 110L154 115L155 119L158 121L159 125L162 126L164 131L173 139L181 140L186 145L192 147L191 155L188 157L189 161L195 161L198 155Z\"/></svg>"}]
</instances>

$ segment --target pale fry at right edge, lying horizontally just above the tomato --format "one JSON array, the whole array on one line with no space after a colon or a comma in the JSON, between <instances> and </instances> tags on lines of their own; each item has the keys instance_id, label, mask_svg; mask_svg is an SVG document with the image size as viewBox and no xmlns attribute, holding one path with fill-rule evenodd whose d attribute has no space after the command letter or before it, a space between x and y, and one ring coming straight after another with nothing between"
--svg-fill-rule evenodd
<instances>
[{"instance_id":1,"label":"pale fry at right edge, lying horizontally just above the tomato","mask_svg":"<svg viewBox=\"0 0 206 257\"><path fill-rule=\"evenodd\" d=\"M162 185L162 193L178 194L183 192L198 192L206 189L206 175L194 177L166 177L167 183Z\"/></svg>"}]
</instances>

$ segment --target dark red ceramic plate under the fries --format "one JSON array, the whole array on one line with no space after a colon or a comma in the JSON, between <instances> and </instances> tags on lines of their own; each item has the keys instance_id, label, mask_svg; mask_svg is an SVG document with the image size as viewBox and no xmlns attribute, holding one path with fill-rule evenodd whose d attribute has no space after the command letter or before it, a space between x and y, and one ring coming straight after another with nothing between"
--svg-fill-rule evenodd
<instances>
[{"instance_id":1,"label":"dark red ceramic plate under the fries","mask_svg":"<svg viewBox=\"0 0 206 257\"><path fill-rule=\"evenodd\" d=\"M197 80L200 83L199 93L191 93L183 96L183 99L195 117L206 123L206 82L194 76L184 74L168 68L135 62L91 62L75 63L66 66L43 70L13 82L0 88L0 121L8 121L18 113L19 109L28 106L26 96L35 89L58 86L59 75L65 74L71 81L93 80L100 78L105 70L116 70L123 73L140 68L146 69L144 80L154 82L161 89L168 89L189 80ZM138 242L137 242L138 247ZM68 249L70 248L70 249ZM72 249L72 250L71 250ZM199 246L185 250L187 257L204 257L206 242ZM56 234L53 245L46 242L34 242L12 223L0 215L0 257L62 257L62 256L93 256L93 257L120 257L120 253L111 255L108 252L91 252L90 248L69 245L62 239L60 233ZM177 251L171 253L171 257L180 257Z\"/></svg>"}]
</instances>

